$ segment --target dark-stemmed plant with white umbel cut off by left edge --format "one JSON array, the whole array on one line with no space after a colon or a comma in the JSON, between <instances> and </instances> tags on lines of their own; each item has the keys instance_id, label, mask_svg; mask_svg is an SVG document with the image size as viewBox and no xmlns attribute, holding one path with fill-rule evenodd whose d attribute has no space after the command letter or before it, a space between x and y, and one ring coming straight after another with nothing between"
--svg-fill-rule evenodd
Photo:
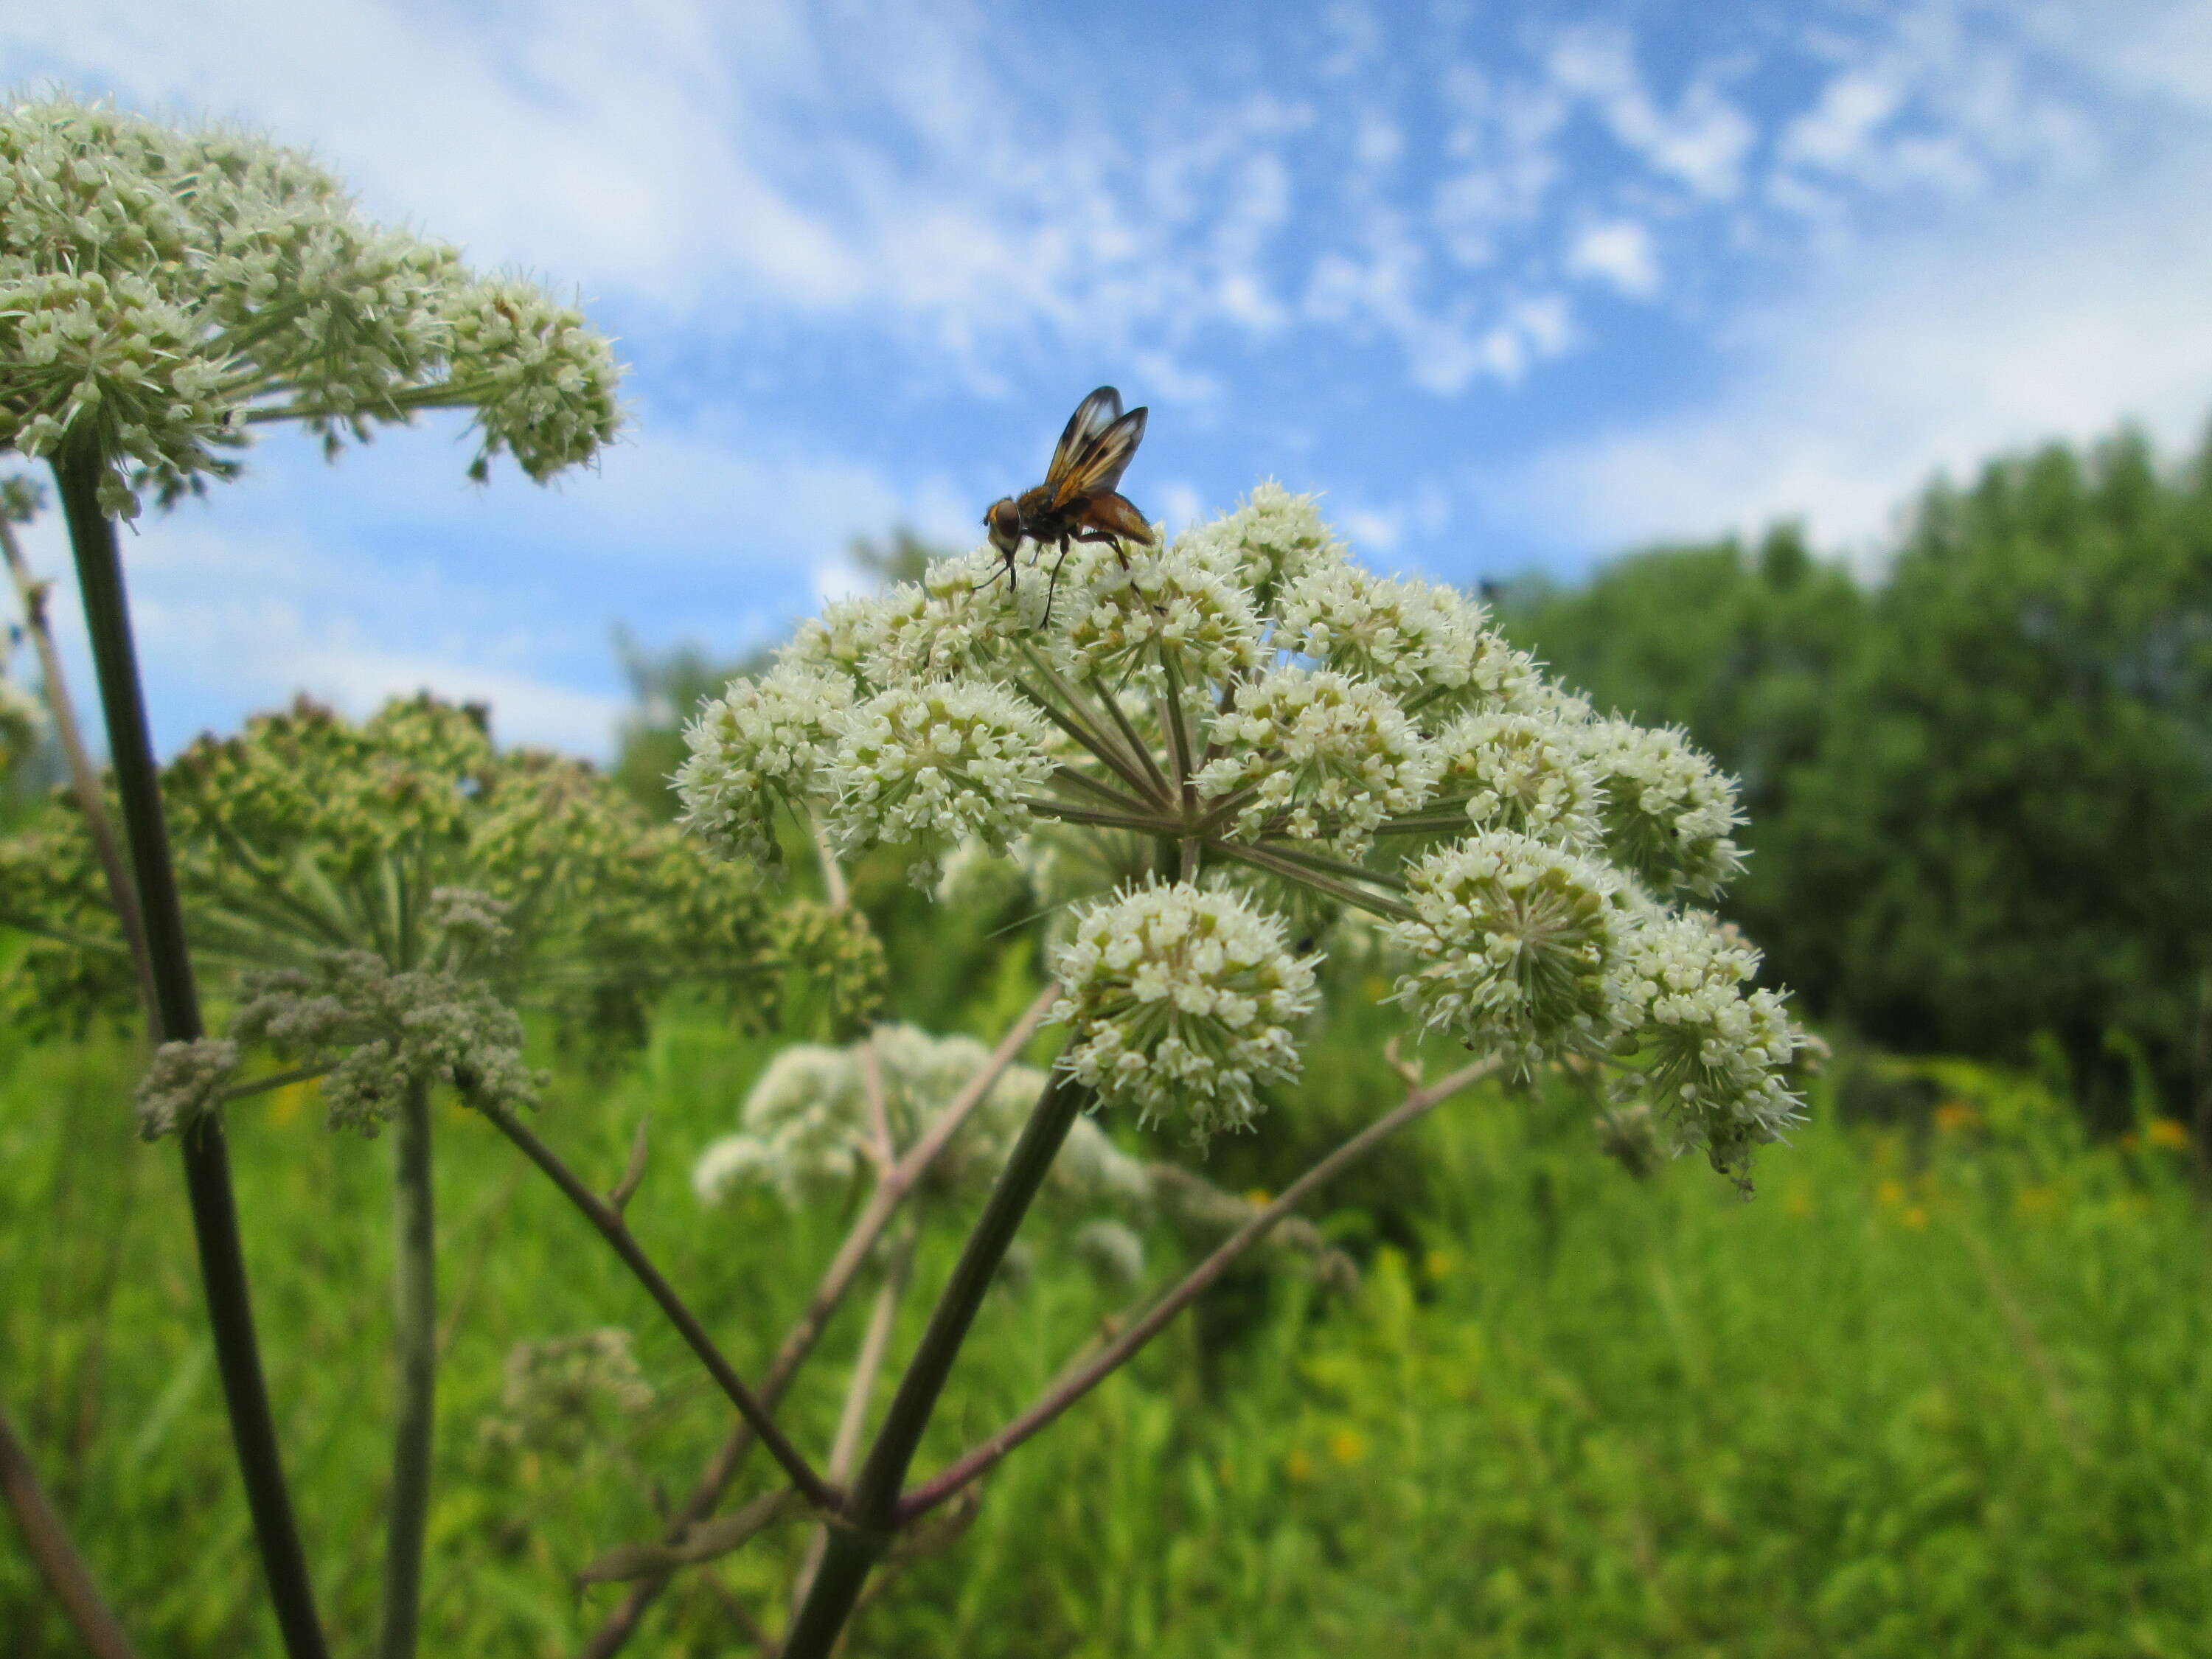
<instances>
[{"instance_id":1,"label":"dark-stemmed plant with white umbel cut off by left edge","mask_svg":"<svg viewBox=\"0 0 2212 1659\"><path fill-rule=\"evenodd\" d=\"M451 248L363 221L294 150L73 100L0 115L0 449L51 465L100 675L157 1042L204 1035L131 644L115 520L232 478L259 425L345 438L471 409L484 476L591 460L617 369L582 316ZM131 896L117 894L128 911ZM181 1135L201 1281L239 1469L292 1659L323 1655L252 1325L221 1119ZM403 1157L427 1183L427 1152ZM420 1535L394 1535L383 1650L414 1648Z\"/></svg>"}]
</instances>

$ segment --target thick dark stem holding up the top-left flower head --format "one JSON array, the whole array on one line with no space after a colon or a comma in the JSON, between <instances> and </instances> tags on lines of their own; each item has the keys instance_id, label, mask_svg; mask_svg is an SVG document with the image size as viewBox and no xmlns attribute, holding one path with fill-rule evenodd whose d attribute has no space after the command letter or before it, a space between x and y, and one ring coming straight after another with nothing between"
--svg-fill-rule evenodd
<instances>
[{"instance_id":1,"label":"thick dark stem holding up the top-left flower head","mask_svg":"<svg viewBox=\"0 0 2212 1659\"><path fill-rule=\"evenodd\" d=\"M137 653L131 644L131 602L124 593L115 524L100 511L102 460L91 451L55 456L62 515L77 560L84 624L93 637L100 706L108 728L108 759L124 807L124 834L146 929L146 960L153 969L155 1002L148 1011L155 1042L190 1042L201 1035L199 995L184 940L184 905L177 869L168 854L168 823L161 816L161 783L146 730L146 697L139 688ZM246 1502L261 1546L276 1626L292 1659L325 1659L323 1628L314 1617L314 1584L292 1520L270 1416L261 1347L254 1340L252 1290L246 1281L246 1245L230 1190L230 1148L219 1113L204 1113L181 1137L184 1186L199 1241L199 1276L208 1292L208 1325L230 1409L230 1440L239 1455Z\"/></svg>"}]
</instances>

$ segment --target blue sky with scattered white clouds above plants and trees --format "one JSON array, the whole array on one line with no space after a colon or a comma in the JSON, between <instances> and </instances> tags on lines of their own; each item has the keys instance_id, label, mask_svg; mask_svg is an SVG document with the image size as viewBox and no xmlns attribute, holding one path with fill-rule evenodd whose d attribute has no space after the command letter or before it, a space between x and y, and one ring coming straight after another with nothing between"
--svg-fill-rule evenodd
<instances>
[{"instance_id":1,"label":"blue sky with scattered white clouds above plants and trees","mask_svg":"<svg viewBox=\"0 0 2212 1659\"><path fill-rule=\"evenodd\" d=\"M166 745L429 684L606 748L615 624L739 650L967 544L1110 380L1126 491L1318 489L1471 582L2212 414L2212 7L73 0L0 84L243 119L577 292L628 440L268 442L128 560ZM51 529L35 542L60 571Z\"/></svg>"}]
</instances>

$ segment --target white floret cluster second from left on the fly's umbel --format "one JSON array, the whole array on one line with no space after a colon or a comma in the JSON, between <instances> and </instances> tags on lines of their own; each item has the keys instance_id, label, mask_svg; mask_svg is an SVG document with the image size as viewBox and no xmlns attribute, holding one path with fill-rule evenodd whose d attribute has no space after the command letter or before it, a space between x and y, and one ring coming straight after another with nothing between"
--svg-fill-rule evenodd
<instances>
[{"instance_id":1,"label":"white floret cluster second from left on the fly's umbel","mask_svg":"<svg viewBox=\"0 0 2212 1659\"><path fill-rule=\"evenodd\" d=\"M878 841L911 845L914 880L931 887L962 841L1002 852L1020 836L1022 799L1051 774L1044 717L1002 686L894 686L843 719L825 774L836 792L832 830L847 854Z\"/></svg>"}]
</instances>

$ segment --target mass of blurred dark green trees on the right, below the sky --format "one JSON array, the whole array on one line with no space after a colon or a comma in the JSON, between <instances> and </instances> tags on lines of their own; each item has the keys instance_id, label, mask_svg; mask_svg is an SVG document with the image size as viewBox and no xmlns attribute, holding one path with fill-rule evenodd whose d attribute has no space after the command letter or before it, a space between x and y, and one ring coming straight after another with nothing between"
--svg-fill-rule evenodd
<instances>
[{"instance_id":1,"label":"mass of blurred dark green trees on the right, below the sky","mask_svg":"<svg viewBox=\"0 0 2212 1659\"><path fill-rule=\"evenodd\" d=\"M1878 584L1659 549L1517 584L1520 641L1745 779L1730 898L1774 980L1907 1051L2053 1035L2093 1117L2194 1077L2212 967L2212 451L2121 434L1918 502Z\"/></svg>"}]
</instances>

